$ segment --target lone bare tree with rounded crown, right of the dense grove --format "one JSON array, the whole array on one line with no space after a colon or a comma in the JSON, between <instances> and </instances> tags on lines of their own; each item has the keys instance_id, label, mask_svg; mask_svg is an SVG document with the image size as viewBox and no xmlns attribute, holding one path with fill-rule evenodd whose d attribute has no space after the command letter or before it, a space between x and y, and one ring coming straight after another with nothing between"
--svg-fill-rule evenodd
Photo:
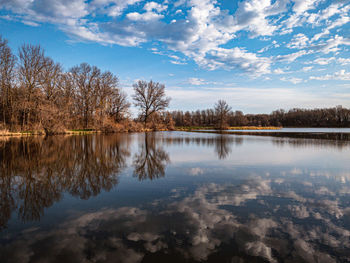
<instances>
[{"instance_id":1,"label":"lone bare tree with rounded crown, right of the dense grove","mask_svg":"<svg viewBox=\"0 0 350 263\"><path fill-rule=\"evenodd\" d=\"M149 116L160 112L169 106L170 98L165 97L165 86L158 82L138 81L133 85L135 94L134 104L140 108L141 116L146 126Z\"/></svg>"}]
</instances>

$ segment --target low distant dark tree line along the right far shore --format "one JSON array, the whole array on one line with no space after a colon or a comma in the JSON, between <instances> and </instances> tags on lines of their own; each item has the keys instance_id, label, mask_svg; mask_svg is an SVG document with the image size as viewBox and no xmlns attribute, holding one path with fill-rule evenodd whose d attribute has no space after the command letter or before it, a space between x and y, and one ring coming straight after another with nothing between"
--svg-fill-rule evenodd
<instances>
[{"instance_id":1,"label":"low distant dark tree line along the right far shore","mask_svg":"<svg viewBox=\"0 0 350 263\"><path fill-rule=\"evenodd\" d=\"M220 101L219 101L220 102ZM323 109L283 109L271 114L244 114L217 103L214 108L196 111L172 111L175 126L276 126L276 127L350 127L350 109L342 106ZM222 104L222 101L221 101Z\"/></svg>"}]
</instances>

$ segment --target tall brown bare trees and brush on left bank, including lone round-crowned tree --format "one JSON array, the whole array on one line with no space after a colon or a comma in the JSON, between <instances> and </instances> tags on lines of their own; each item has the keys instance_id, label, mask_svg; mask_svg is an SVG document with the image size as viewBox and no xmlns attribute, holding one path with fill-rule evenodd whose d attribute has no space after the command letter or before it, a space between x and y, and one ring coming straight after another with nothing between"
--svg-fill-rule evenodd
<instances>
[{"instance_id":1,"label":"tall brown bare trees and brush on left bank, including lone round-crowned tree","mask_svg":"<svg viewBox=\"0 0 350 263\"><path fill-rule=\"evenodd\" d=\"M17 58L7 40L0 37L3 134L168 129L173 124L169 120L171 115L163 113L170 101L164 90L163 84L153 81L135 84L134 100L141 111L142 126L130 119L131 104L119 87L118 78L110 71L82 63L65 72L40 46L34 45L22 45Z\"/></svg>"}]
</instances>

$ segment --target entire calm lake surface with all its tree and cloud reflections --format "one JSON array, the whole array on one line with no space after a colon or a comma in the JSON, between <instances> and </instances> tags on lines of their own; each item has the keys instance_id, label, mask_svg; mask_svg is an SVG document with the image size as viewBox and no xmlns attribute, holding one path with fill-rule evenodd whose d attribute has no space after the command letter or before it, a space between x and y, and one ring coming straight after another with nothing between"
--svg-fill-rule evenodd
<instances>
[{"instance_id":1,"label":"entire calm lake surface with all its tree and cloud reflections","mask_svg":"<svg viewBox=\"0 0 350 263\"><path fill-rule=\"evenodd\" d=\"M0 141L0 262L348 262L350 141Z\"/></svg>"}]
</instances>

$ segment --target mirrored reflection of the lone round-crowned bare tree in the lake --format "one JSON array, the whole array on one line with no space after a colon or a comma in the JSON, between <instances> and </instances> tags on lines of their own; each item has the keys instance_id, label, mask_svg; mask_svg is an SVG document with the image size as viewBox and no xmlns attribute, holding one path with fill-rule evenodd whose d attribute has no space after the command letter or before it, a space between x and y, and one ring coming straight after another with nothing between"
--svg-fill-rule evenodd
<instances>
[{"instance_id":1,"label":"mirrored reflection of the lone round-crowned bare tree in the lake","mask_svg":"<svg viewBox=\"0 0 350 263\"><path fill-rule=\"evenodd\" d=\"M135 154L133 160L134 176L137 176L139 180L153 180L165 175L165 168L170 159L158 143L155 133L145 133L141 149Z\"/></svg>"}]
</instances>

